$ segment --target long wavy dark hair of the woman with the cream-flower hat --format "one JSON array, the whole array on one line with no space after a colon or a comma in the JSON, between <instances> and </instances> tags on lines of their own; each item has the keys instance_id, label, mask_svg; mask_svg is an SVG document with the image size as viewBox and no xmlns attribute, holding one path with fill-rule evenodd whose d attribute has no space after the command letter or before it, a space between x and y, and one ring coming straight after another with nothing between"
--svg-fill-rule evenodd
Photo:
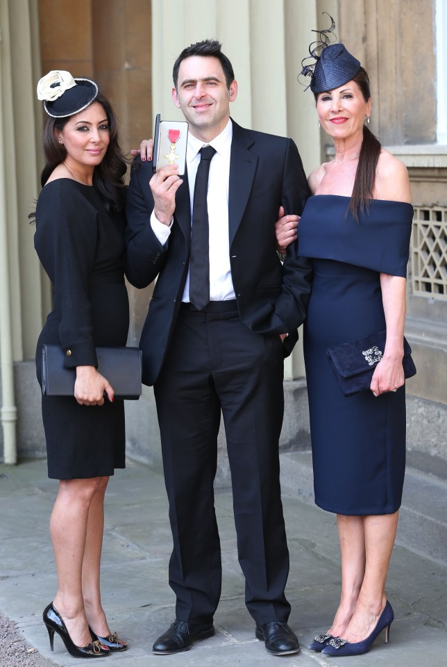
<instances>
[{"instance_id":1,"label":"long wavy dark hair of the woman with the cream-flower hat","mask_svg":"<svg viewBox=\"0 0 447 667\"><path fill-rule=\"evenodd\" d=\"M110 102L101 94L94 99L94 102L99 102L106 112L110 141L103 160L99 165L94 167L93 185L99 191L107 211L121 211L124 208L124 191L126 189L124 176L128 163L119 147L117 119L110 106ZM42 188L56 167L67 157L65 146L58 142L55 131L61 132L71 117L54 118L47 116L45 119L42 145L47 163L42 170L42 174L40 174L40 185ZM35 211L30 213L28 218L31 222L34 222Z\"/></svg>"}]
</instances>

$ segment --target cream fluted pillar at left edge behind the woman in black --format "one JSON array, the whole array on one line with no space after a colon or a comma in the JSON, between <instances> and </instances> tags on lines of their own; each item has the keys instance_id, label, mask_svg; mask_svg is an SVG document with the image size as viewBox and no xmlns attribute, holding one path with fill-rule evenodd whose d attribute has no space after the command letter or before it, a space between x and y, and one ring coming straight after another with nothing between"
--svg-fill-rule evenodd
<instances>
[{"instance_id":1,"label":"cream fluted pillar at left edge behind the woman in black","mask_svg":"<svg viewBox=\"0 0 447 667\"><path fill-rule=\"evenodd\" d=\"M4 254L0 297L3 312L0 342L3 434L0 434L0 444L4 446L6 463L16 461L17 412L20 415L17 411L20 397L12 364L34 356L41 324L40 269L33 248L33 227L28 224L28 213L37 195L36 17L34 0L0 0L0 215Z\"/></svg>"}]
</instances>

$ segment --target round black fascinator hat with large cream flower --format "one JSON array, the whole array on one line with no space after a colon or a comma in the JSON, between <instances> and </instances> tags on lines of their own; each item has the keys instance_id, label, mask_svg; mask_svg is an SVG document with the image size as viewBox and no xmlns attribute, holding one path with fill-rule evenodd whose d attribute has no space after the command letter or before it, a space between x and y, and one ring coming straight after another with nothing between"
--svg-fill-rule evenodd
<instances>
[{"instance_id":1,"label":"round black fascinator hat with large cream flower","mask_svg":"<svg viewBox=\"0 0 447 667\"><path fill-rule=\"evenodd\" d=\"M65 118L83 111L99 95L99 87L90 79L74 79L69 72L52 69L37 83L37 99L53 118Z\"/></svg>"}]
</instances>

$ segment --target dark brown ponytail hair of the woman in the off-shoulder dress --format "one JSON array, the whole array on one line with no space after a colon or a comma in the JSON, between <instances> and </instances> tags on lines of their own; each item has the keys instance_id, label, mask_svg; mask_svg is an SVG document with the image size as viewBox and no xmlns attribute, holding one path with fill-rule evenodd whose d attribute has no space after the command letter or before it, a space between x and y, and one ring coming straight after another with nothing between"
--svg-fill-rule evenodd
<instances>
[{"instance_id":1,"label":"dark brown ponytail hair of the woman in the off-shoulder dress","mask_svg":"<svg viewBox=\"0 0 447 667\"><path fill-rule=\"evenodd\" d=\"M366 69L360 67L352 80L357 83L360 92L364 97L364 101L367 102L371 97L371 90ZM316 100L317 97L318 94L315 95ZM351 195L351 201L348 206L348 211L351 211L357 222L359 220L359 210L361 213L363 213L365 209L368 211L369 204L373 198L376 170L381 149L380 141L373 135L371 130L364 125L362 148L360 149L359 162L357 171L355 172L353 194Z\"/></svg>"}]
</instances>

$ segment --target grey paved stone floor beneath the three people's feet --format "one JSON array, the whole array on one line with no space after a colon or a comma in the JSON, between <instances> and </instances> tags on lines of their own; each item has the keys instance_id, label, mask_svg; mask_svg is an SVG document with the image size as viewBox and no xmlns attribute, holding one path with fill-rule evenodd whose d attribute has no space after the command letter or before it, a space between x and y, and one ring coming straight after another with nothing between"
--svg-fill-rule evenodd
<instances>
[{"instance_id":1,"label":"grey paved stone floor beneath the three people's feet","mask_svg":"<svg viewBox=\"0 0 447 667\"><path fill-rule=\"evenodd\" d=\"M20 665L76 667L56 636L54 652L42 610L56 591L49 516L57 481L47 479L46 461L0 466L0 614L18 624L19 636L36 649ZM171 534L162 477L141 463L128 462L110 479L103 549L103 605L112 630L130 649L108 657L122 667L441 667L447 664L447 569L439 562L396 546L387 586L395 621L390 641L380 636L361 657L330 658L307 649L326 630L339 597L339 549L335 517L284 497L291 573L289 623L301 653L273 657L255 639L244 607L244 579L236 557L232 498L216 495L223 559L222 597L216 635L172 656L151 653L153 640L174 620L174 595L167 584ZM34 657L33 657L34 656ZM4 658L4 659L3 659ZM6 656L0 667L13 667ZM34 661L33 661L34 660ZM102 663L101 663L102 664Z\"/></svg>"}]
</instances>

